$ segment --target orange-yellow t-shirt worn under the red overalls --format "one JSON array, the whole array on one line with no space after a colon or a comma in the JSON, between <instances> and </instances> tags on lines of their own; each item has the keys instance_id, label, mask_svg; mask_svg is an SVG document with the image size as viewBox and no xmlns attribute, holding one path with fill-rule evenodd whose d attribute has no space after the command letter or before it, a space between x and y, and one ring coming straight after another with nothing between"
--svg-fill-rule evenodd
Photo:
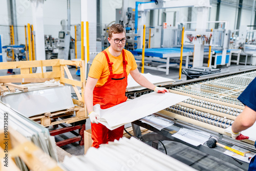
<instances>
[{"instance_id":1,"label":"orange-yellow t-shirt worn under the red overalls","mask_svg":"<svg viewBox=\"0 0 256 171\"><path fill-rule=\"evenodd\" d=\"M114 64L112 65L113 74L121 74L123 72L123 57L122 53L115 57L110 54L109 48L105 49L106 53L108 53L110 61ZM125 52L125 60L127 60L126 65L126 73L129 75L130 70L133 71L137 68L137 63L133 54L130 51L124 49ZM106 60L105 54L103 52L99 53L94 59L92 66L90 68L89 77L97 78L98 82L96 83L96 87L103 86L106 81L108 81L110 75L108 61Z\"/></svg>"}]
</instances>

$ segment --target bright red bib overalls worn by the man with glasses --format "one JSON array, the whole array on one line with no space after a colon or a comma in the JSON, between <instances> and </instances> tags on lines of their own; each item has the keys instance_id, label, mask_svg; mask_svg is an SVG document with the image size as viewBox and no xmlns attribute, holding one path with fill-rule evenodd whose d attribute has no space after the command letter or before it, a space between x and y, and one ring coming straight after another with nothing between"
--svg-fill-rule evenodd
<instances>
[{"instance_id":1,"label":"bright red bib overalls worn by the man with glasses","mask_svg":"<svg viewBox=\"0 0 256 171\"><path fill-rule=\"evenodd\" d=\"M127 87L127 73L124 50L122 50L123 57L123 73L113 74L112 65L108 53L102 51L108 61L110 75L108 81L101 86L95 87L93 91L93 105L100 104L101 109L111 108L114 105L120 104L127 100L125 90ZM109 141L119 140L123 136L124 125L115 130L109 130L101 123L91 123L92 126L92 140L94 147L98 148L100 144L108 143Z\"/></svg>"}]
</instances>

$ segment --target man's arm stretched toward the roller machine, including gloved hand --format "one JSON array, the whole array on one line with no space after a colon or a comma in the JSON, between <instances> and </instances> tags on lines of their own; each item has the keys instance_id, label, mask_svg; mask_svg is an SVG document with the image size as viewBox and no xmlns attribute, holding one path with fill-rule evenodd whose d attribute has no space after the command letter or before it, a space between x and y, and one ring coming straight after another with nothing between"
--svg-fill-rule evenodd
<instances>
[{"instance_id":1,"label":"man's arm stretched toward the roller machine, including gloved hand","mask_svg":"<svg viewBox=\"0 0 256 171\"><path fill-rule=\"evenodd\" d=\"M165 93L165 92L169 92L167 89L165 88L160 88L160 87L156 87L153 83L151 83L150 81L148 81L142 74L140 74L138 68L136 68L133 71L130 71L131 76L133 77L133 79L140 84L140 86L143 86L147 89L151 89L154 90L157 93Z\"/></svg>"}]
</instances>

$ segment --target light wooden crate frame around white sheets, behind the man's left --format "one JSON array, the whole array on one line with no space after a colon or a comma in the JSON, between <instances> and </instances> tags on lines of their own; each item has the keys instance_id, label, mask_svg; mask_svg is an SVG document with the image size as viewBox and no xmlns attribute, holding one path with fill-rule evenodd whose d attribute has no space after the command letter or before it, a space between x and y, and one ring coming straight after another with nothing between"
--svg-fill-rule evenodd
<instances>
[{"instance_id":1,"label":"light wooden crate frame around white sheets, behind the man's left","mask_svg":"<svg viewBox=\"0 0 256 171\"><path fill-rule=\"evenodd\" d=\"M68 66L80 67L80 81L73 79ZM41 73L30 73L30 68L35 67L37 67L37 70L41 69ZM52 67L52 71L43 72L43 67ZM1 95L7 91L13 92L15 91L15 89L22 90L24 92L27 91L25 87L14 84L14 82L45 82L46 80L50 79L55 79L63 85L69 84L74 89L76 96L78 98L73 99L73 103L76 105L74 109L50 112L39 116L37 115L35 117L31 117L32 120L39 120L42 125L50 126L59 123L73 123L88 118L86 106L84 104L84 87L86 84L86 78L84 74L84 61L51 59L35 61L0 62L0 70L6 69L20 69L20 74L0 76ZM67 78L65 77L65 74L67 75ZM81 87L81 94L79 93L77 87ZM52 122L53 119L68 115L74 115L74 117Z\"/></svg>"}]
</instances>

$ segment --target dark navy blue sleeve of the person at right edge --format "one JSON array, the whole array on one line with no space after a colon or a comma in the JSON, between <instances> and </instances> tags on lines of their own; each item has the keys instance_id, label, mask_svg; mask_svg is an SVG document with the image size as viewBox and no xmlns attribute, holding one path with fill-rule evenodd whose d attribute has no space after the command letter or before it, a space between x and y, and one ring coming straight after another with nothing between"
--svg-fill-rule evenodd
<instances>
[{"instance_id":1,"label":"dark navy blue sleeve of the person at right edge","mask_svg":"<svg viewBox=\"0 0 256 171\"><path fill-rule=\"evenodd\" d=\"M256 112L256 78L254 78L238 99Z\"/></svg>"}]
</instances>

